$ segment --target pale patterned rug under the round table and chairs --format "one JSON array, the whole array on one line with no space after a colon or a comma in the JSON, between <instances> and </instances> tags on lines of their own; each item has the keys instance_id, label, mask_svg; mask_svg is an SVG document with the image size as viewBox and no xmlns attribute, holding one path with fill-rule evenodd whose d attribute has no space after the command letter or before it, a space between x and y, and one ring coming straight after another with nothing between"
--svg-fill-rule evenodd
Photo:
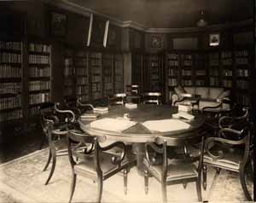
<instances>
[{"instance_id":1,"label":"pale patterned rug under the round table and chairs","mask_svg":"<svg viewBox=\"0 0 256 203\"><path fill-rule=\"evenodd\" d=\"M67 156L57 158L54 176L50 183L45 186L44 182L49 175L49 170L42 172L42 169L47 157L48 150L44 149L0 165L0 191L4 192L5 188L13 189L12 192L5 195L3 192L0 193L0 202L3 202L6 198L10 200L6 202L11 202L11 200L26 203L67 202L71 181L71 168L68 158ZM223 172L216 177L215 170L209 168L208 187L207 191L203 191L203 200L244 200L241 188L239 188L240 185L235 183L235 180L235 177L230 178L229 174ZM124 194L122 175L110 177L103 183L102 202L161 202L160 183L153 177L149 178L148 194L144 194L143 184L143 177L138 175L136 167L132 168L128 174L128 194L126 195ZM223 199L222 196L228 193L230 195L228 197L225 195L226 197ZM195 183L188 183L186 189L183 188L182 184L168 186L167 195L170 202L197 202ZM73 202L94 202L95 200L96 183L78 177Z\"/></svg>"}]
</instances>

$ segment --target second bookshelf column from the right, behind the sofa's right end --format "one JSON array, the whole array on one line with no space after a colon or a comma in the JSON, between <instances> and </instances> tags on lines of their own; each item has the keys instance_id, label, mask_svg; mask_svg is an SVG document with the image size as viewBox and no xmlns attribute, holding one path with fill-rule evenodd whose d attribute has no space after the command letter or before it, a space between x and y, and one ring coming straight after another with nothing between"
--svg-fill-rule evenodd
<instances>
[{"instance_id":1,"label":"second bookshelf column from the right, behind the sofa's right end","mask_svg":"<svg viewBox=\"0 0 256 203\"><path fill-rule=\"evenodd\" d=\"M221 63L221 80L222 87L231 89L233 86L233 56L231 50L223 50L220 52Z\"/></svg>"}]
</instances>

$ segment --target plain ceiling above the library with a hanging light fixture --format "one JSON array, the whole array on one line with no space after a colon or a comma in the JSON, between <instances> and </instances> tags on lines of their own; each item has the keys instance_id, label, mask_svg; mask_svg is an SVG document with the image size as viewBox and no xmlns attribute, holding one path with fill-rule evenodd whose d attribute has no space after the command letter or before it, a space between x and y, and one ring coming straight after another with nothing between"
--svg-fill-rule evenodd
<instances>
[{"instance_id":1,"label":"plain ceiling above the library with a hanging light fixture","mask_svg":"<svg viewBox=\"0 0 256 203\"><path fill-rule=\"evenodd\" d=\"M209 25L252 19L253 0L63 0L147 28L195 27L200 10Z\"/></svg>"}]
</instances>

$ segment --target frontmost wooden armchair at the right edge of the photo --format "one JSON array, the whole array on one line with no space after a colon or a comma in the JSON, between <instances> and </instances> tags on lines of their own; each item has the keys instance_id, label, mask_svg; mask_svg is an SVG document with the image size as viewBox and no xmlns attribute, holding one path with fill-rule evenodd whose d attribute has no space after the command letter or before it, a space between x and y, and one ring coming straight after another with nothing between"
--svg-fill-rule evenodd
<instances>
[{"instance_id":1,"label":"frontmost wooden armchair at the right edge of the photo","mask_svg":"<svg viewBox=\"0 0 256 203\"><path fill-rule=\"evenodd\" d=\"M252 197L248 192L245 171L251 164L253 154L252 127L247 122L241 130L231 128L221 128L218 137L209 137L206 140L203 159L203 188L207 188L207 165L220 169L235 171L239 173L241 188L247 198L251 201ZM213 144L213 146L212 146Z\"/></svg>"}]
</instances>

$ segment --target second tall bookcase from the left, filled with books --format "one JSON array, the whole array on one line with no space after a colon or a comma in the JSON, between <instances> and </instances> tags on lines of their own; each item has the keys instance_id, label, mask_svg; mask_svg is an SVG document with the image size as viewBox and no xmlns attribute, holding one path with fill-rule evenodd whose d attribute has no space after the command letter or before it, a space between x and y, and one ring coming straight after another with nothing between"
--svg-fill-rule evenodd
<instances>
[{"instance_id":1,"label":"second tall bookcase from the left, filled with books","mask_svg":"<svg viewBox=\"0 0 256 203\"><path fill-rule=\"evenodd\" d=\"M38 114L38 106L51 101L51 46L28 44L29 116Z\"/></svg>"}]
</instances>

